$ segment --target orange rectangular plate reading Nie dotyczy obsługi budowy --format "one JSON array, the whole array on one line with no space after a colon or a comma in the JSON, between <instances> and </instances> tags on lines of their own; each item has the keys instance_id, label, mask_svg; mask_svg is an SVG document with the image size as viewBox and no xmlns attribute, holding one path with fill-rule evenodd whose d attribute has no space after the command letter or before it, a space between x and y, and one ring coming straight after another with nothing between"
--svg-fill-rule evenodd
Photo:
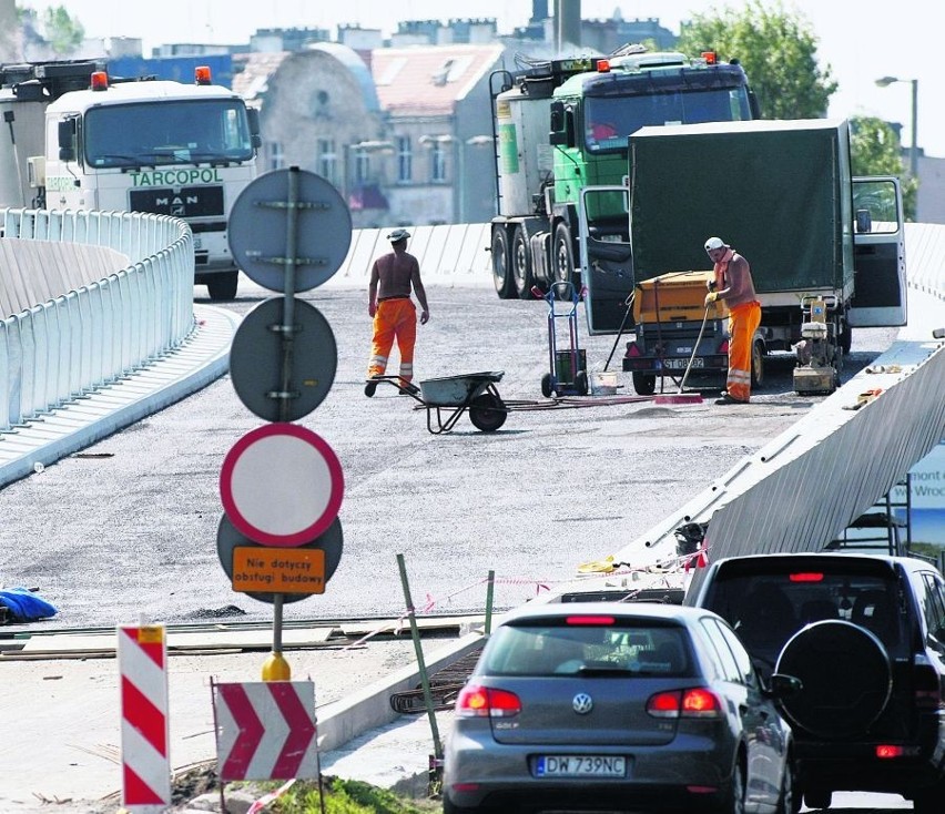
<instances>
[{"instance_id":1,"label":"orange rectangular plate reading Nie dotyczy obs\u0142ugi budowy","mask_svg":"<svg viewBox=\"0 0 945 814\"><path fill-rule=\"evenodd\" d=\"M324 593L325 552L317 548L233 550L233 590L243 593Z\"/></svg>"}]
</instances>

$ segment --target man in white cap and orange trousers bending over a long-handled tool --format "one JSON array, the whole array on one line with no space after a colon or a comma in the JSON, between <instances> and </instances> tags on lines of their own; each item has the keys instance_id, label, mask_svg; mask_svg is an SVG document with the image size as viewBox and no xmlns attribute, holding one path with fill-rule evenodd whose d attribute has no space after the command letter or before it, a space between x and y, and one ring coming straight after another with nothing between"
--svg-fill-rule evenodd
<instances>
[{"instance_id":1,"label":"man in white cap and orange trousers bending over a long-handled tool","mask_svg":"<svg viewBox=\"0 0 945 814\"><path fill-rule=\"evenodd\" d=\"M721 237L705 241L705 253L714 264L705 307L721 299L729 308L729 375L715 404L748 404L751 398L751 349L761 324L761 303L754 293L749 262Z\"/></svg>"}]
</instances>

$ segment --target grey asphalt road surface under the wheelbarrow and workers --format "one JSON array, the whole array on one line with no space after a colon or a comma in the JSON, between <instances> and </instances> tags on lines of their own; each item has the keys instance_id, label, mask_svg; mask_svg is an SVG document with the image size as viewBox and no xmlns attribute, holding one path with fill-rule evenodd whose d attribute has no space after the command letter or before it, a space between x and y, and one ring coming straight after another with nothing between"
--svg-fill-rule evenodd
<instances>
[{"instance_id":1,"label":"grey asphalt road surface under the wheelbarrow and workers","mask_svg":"<svg viewBox=\"0 0 945 814\"><path fill-rule=\"evenodd\" d=\"M203 288L195 294L203 297ZM240 299L227 307L245 313L267 296L243 281ZM328 319L338 348L327 398L299 424L341 458L344 553L325 593L286 606L287 618L400 614L398 553L418 610L481 610L490 569L496 607L520 604L634 539L819 400L793 393L785 356L772 360L765 386L738 415L712 404L713 384L697 405L515 410L495 434L463 416L451 433L435 436L423 406L394 387L378 387L374 398L363 393L370 339L365 292L314 289L302 297ZM435 286L429 299L417 380L504 370L504 399L543 400L543 302ZM613 337L587 337L585 325L581 316L580 345L589 369L600 370ZM567 346L567 320L556 327ZM845 375L893 336L856 333ZM610 369L620 370L621 353ZM633 395L629 375L620 381L618 393ZM57 606L59 614L42 629L126 623L142 614L180 622L228 606L242 609L243 619L271 619L268 604L231 589L216 552L223 458L263 424L224 377L0 490L0 583L37 588ZM266 477L285 476L273 469Z\"/></svg>"}]
</instances>

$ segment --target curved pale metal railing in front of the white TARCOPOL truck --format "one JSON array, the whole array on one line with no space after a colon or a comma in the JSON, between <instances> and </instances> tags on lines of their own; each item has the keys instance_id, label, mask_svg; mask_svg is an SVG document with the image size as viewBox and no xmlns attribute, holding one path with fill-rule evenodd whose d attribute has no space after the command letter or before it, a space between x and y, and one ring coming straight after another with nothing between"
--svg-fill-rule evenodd
<instances>
[{"instance_id":1,"label":"curved pale metal railing in front of the white TARCOPOL truck","mask_svg":"<svg viewBox=\"0 0 945 814\"><path fill-rule=\"evenodd\" d=\"M0 221L6 241L104 246L130 261L0 322L0 433L120 379L193 332L193 237L184 222L22 208L0 210Z\"/></svg>"}]
</instances>

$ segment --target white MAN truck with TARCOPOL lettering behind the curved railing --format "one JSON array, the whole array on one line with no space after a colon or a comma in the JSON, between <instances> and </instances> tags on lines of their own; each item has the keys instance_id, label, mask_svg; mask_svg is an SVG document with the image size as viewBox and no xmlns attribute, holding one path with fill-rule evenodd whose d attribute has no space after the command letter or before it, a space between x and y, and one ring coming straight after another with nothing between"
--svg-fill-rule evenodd
<instances>
[{"instance_id":1,"label":"white MAN truck with TARCOPOL lettering behind the curved railing","mask_svg":"<svg viewBox=\"0 0 945 814\"><path fill-rule=\"evenodd\" d=\"M256 176L258 119L197 68L194 84L110 78L103 61L0 65L0 206L150 212L194 236L194 282L236 296L230 207Z\"/></svg>"}]
</instances>

